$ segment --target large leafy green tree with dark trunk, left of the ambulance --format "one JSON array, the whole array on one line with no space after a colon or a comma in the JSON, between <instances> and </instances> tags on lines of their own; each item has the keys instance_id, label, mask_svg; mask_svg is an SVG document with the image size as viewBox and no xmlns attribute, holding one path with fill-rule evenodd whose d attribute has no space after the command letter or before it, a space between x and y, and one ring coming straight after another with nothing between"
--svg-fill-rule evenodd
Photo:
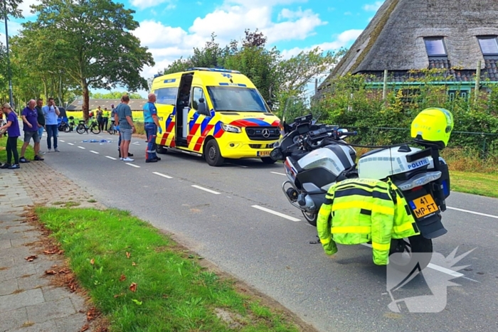
<instances>
[{"instance_id":1,"label":"large leafy green tree with dark trunk, left of the ambulance","mask_svg":"<svg viewBox=\"0 0 498 332\"><path fill-rule=\"evenodd\" d=\"M139 72L154 60L130 32L138 27L134 11L112 0L41 0L33 9L38 18L23 23L21 36L37 41L36 49L52 61L48 68L65 70L80 86L85 119L90 87L147 89Z\"/></svg>"}]
</instances>

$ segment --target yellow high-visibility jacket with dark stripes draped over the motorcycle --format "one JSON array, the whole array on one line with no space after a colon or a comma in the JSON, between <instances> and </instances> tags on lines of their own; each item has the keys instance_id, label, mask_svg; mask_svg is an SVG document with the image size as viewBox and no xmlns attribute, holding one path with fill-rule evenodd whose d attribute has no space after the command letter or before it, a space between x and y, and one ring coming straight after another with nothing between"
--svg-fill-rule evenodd
<instances>
[{"instance_id":1,"label":"yellow high-visibility jacket with dark stripes draped over the motorcycle","mask_svg":"<svg viewBox=\"0 0 498 332\"><path fill-rule=\"evenodd\" d=\"M355 178L329 188L317 220L320 242L327 255L341 245L370 242L373 262L388 264L391 238L418 234L406 199L391 182Z\"/></svg>"}]
</instances>

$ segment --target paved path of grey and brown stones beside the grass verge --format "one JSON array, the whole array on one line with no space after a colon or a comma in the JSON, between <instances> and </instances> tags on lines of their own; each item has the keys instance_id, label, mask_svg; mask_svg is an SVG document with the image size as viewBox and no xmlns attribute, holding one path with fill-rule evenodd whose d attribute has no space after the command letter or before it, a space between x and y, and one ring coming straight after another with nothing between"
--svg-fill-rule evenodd
<instances>
[{"instance_id":1,"label":"paved path of grey and brown stones beside the grass verge","mask_svg":"<svg viewBox=\"0 0 498 332\"><path fill-rule=\"evenodd\" d=\"M51 285L45 274L63 264L63 257L38 255L41 232L23 223L22 217L30 205L68 202L103 208L43 162L31 161L16 171L0 170L0 332L78 332L87 323L85 299ZM25 258L31 255L38 258L28 262Z\"/></svg>"}]
</instances>

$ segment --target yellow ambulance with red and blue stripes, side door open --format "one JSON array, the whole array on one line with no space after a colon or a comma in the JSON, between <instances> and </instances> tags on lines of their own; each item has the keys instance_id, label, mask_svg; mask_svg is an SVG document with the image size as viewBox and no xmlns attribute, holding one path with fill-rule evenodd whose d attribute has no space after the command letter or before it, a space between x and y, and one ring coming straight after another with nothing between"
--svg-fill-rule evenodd
<instances>
[{"instance_id":1,"label":"yellow ambulance with red and blue stripes, side door open","mask_svg":"<svg viewBox=\"0 0 498 332\"><path fill-rule=\"evenodd\" d=\"M157 116L162 134L157 149L198 154L211 166L224 159L260 158L280 137L280 120L258 89L236 70L190 68L154 78Z\"/></svg>"}]
</instances>

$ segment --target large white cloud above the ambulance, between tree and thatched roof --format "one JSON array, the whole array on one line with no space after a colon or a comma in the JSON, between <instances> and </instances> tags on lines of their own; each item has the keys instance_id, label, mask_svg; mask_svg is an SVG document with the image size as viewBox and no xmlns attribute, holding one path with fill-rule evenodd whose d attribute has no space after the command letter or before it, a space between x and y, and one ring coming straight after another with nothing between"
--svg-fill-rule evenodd
<instances>
[{"instance_id":1,"label":"large white cloud above the ambulance, between tree and thatched roof","mask_svg":"<svg viewBox=\"0 0 498 332\"><path fill-rule=\"evenodd\" d=\"M152 1L157 0L131 1L144 5L147 1L152 4ZM215 33L216 42L221 46L227 45L233 39L240 41L245 36L246 28L251 31L258 28L267 37L269 45L277 41L303 40L312 36L317 26L327 22L322 21L319 15L310 9L282 9L279 20L272 21L272 6L304 1L306 0L225 0L210 14L196 18L186 30L166 26L157 18L142 21L133 33L142 45L149 48L156 62L153 68L144 68L142 75L150 77L158 70L167 68L181 56L189 57L193 48L202 48L205 45L211 38L211 33Z\"/></svg>"}]
</instances>

